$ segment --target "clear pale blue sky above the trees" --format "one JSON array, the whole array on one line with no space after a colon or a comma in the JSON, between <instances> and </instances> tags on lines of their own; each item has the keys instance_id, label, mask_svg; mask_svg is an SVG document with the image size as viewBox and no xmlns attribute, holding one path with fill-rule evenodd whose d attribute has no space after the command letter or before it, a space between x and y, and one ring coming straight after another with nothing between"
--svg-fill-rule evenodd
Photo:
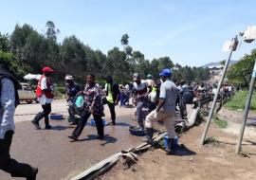
<instances>
[{"instance_id":1,"label":"clear pale blue sky above the trees","mask_svg":"<svg viewBox=\"0 0 256 180\"><path fill-rule=\"evenodd\" d=\"M0 0L0 32L28 24L46 33L46 22L60 29L58 42L76 35L85 45L103 53L120 45L124 33L129 45L148 60L169 56L174 63L200 66L228 58L223 52L248 26L256 25L255 0ZM242 43L232 55L239 60L253 44Z\"/></svg>"}]
</instances>

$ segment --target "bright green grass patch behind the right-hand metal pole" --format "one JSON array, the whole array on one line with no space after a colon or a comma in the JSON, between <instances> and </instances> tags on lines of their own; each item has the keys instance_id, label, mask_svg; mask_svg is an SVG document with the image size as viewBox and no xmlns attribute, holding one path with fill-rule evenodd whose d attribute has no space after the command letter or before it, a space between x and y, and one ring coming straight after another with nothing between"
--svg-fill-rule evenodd
<instances>
[{"instance_id":1,"label":"bright green grass patch behind the right-hand metal pole","mask_svg":"<svg viewBox=\"0 0 256 180\"><path fill-rule=\"evenodd\" d=\"M246 106L248 91L239 91L235 96L229 99L224 107L227 107L230 110L244 110ZM250 101L250 110L256 110L256 92L253 93Z\"/></svg>"}]
</instances>

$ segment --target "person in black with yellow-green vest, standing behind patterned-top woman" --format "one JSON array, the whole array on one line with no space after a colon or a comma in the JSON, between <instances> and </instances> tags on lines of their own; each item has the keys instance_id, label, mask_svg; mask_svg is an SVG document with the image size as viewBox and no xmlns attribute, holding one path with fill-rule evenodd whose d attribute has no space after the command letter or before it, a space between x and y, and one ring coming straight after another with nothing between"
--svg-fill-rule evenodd
<instances>
[{"instance_id":1,"label":"person in black with yellow-green vest, standing behind patterned-top woman","mask_svg":"<svg viewBox=\"0 0 256 180\"><path fill-rule=\"evenodd\" d=\"M116 111L115 106L119 104L119 84L113 82L113 78L111 76L107 76L105 78L106 84L104 88L104 92L106 94L106 98L103 99L103 104L107 104L111 114L111 121L113 125L116 125ZM110 124L109 123L109 124Z\"/></svg>"}]
</instances>

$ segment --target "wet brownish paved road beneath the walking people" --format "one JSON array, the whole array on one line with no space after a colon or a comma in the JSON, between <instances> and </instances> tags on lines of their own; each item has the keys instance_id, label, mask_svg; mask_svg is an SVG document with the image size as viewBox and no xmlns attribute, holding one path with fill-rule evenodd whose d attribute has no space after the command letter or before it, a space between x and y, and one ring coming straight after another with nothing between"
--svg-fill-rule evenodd
<instances>
[{"instance_id":1,"label":"wet brownish paved road beneath the walking people","mask_svg":"<svg viewBox=\"0 0 256 180\"><path fill-rule=\"evenodd\" d=\"M41 111L39 104L21 104L16 110L16 132L11 146L11 156L20 162L39 167L38 180L59 180L82 171L113 153L137 146L141 143L137 136L129 135L128 126L136 124L131 120L134 109L117 107L116 126L106 126L105 140L96 139L95 127L85 126L81 141L70 142L67 135L73 131L66 120L51 120L52 130L35 130L30 123L34 115ZM64 100L52 104L52 112L66 114ZM109 111L106 108L106 118ZM43 121L42 127L43 126ZM0 171L1 180L11 178Z\"/></svg>"}]
</instances>

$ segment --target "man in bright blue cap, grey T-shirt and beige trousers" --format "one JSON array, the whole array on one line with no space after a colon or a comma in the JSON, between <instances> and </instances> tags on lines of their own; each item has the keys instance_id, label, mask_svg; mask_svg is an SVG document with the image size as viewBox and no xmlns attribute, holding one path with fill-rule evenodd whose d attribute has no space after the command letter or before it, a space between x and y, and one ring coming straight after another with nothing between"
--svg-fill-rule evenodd
<instances>
[{"instance_id":1,"label":"man in bright blue cap, grey T-shirt and beige trousers","mask_svg":"<svg viewBox=\"0 0 256 180\"><path fill-rule=\"evenodd\" d=\"M163 69L159 74L162 79L160 85L159 102L154 111L152 111L145 120L146 137L149 143L152 143L154 135L153 122L163 120L167 130L168 145L165 148L166 153L174 152L174 113L177 99L178 89L173 81L171 81L172 70Z\"/></svg>"}]
</instances>

